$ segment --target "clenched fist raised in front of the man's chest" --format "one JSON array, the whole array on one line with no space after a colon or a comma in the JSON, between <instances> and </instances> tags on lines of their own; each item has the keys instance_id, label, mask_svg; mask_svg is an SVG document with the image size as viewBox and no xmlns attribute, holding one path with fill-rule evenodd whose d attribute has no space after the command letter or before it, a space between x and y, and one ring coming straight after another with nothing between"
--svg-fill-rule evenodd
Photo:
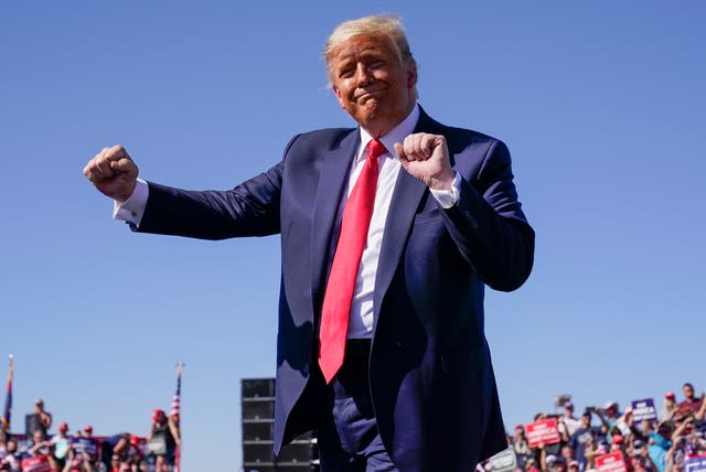
<instances>
[{"instance_id":1,"label":"clenched fist raised in front of the man's chest","mask_svg":"<svg viewBox=\"0 0 706 472\"><path fill-rule=\"evenodd\" d=\"M429 189L451 190L453 169L443 136L427 132L409 135L402 144L395 142L395 152L403 168Z\"/></svg>"}]
</instances>

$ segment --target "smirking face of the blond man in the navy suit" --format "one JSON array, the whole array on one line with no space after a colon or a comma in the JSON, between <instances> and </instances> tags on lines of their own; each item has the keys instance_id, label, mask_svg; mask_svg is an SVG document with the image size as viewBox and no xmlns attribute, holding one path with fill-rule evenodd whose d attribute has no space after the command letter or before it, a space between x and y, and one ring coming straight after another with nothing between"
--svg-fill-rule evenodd
<instances>
[{"instance_id":1,"label":"smirking face of the blond man in the navy suit","mask_svg":"<svg viewBox=\"0 0 706 472\"><path fill-rule=\"evenodd\" d=\"M387 36L354 36L329 58L341 108L373 137L397 126L415 105L417 67L403 63Z\"/></svg>"}]
</instances>

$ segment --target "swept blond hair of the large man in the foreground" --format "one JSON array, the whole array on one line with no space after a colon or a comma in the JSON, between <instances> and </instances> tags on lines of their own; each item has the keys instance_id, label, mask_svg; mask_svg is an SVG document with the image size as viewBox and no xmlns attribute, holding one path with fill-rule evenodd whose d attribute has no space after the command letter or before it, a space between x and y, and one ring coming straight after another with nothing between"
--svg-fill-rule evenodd
<instances>
[{"instance_id":1,"label":"swept blond hair of the large man in the foreground","mask_svg":"<svg viewBox=\"0 0 706 472\"><path fill-rule=\"evenodd\" d=\"M392 40L399 61L407 65L416 65L415 58L411 56L409 43L405 35L405 26L402 19L396 14L375 14L372 17L359 18L357 20L349 20L339 24L331 33L323 46L323 56L327 61L327 72L329 75L329 84L333 71L331 69L331 55L333 50L355 36L387 36Z\"/></svg>"}]
</instances>

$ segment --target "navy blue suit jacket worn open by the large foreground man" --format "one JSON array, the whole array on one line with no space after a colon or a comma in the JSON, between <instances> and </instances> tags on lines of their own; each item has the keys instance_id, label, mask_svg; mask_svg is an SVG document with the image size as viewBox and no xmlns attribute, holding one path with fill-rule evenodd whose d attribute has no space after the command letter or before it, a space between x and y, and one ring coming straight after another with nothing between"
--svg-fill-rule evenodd
<instances>
[{"instance_id":1,"label":"navy blue suit jacket worn open by the large foreground man","mask_svg":"<svg viewBox=\"0 0 706 472\"><path fill-rule=\"evenodd\" d=\"M506 448L483 290L528 277L534 232L517 200L507 148L421 112L416 131L443 135L462 178L441 210L400 170L374 292L370 384L381 437L400 471L471 471ZM281 234L275 449L315 427L320 400L315 325L356 129L295 137L284 159L231 191L150 183L140 232L206 239Z\"/></svg>"}]
</instances>

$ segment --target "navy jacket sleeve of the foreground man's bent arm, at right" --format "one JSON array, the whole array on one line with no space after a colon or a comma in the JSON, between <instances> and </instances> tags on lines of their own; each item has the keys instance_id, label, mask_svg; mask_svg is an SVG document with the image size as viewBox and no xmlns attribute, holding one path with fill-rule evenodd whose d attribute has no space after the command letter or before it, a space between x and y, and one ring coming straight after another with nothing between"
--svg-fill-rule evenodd
<instances>
[{"instance_id":1,"label":"navy jacket sleeve of the foreground man's bent arm, at right","mask_svg":"<svg viewBox=\"0 0 706 472\"><path fill-rule=\"evenodd\" d=\"M491 141L477 174L461 178L458 203L443 211L447 228L485 285L515 290L532 271L535 236L517 200L510 151Z\"/></svg>"}]
</instances>

